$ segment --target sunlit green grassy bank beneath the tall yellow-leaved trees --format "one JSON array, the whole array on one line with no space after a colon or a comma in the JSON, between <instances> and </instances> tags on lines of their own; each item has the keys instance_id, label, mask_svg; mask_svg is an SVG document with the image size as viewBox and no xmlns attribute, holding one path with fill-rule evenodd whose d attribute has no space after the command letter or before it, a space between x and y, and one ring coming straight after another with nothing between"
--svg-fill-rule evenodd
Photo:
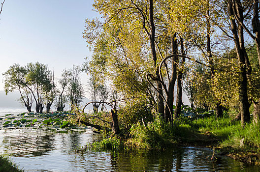
<instances>
[{"instance_id":1,"label":"sunlit green grassy bank beneath the tall yellow-leaved trees","mask_svg":"<svg viewBox=\"0 0 260 172\"><path fill-rule=\"evenodd\" d=\"M209 146L239 161L260 165L260 125L251 123L242 127L240 121L232 121L229 117L182 117L173 124L156 117L146 125L131 126L129 132L128 139L105 139L94 143L93 147L104 150L122 148L122 144L128 148L148 149L163 149L176 144Z\"/></svg>"}]
</instances>

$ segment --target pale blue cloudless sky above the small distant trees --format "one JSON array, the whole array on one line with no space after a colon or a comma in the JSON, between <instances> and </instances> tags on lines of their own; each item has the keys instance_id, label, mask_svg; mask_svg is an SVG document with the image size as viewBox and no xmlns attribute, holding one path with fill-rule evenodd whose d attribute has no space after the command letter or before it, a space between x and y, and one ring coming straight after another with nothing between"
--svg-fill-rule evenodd
<instances>
[{"instance_id":1,"label":"pale blue cloudless sky above the small distant trees","mask_svg":"<svg viewBox=\"0 0 260 172\"><path fill-rule=\"evenodd\" d=\"M0 0L2 2L2 0ZM85 19L98 17L93 0L5 0L0 15L0 90L10 65L40 62L63 69L91 57L82 37ZM86 84L87 75L81 78Z\"/></svg>"}]
</instances>

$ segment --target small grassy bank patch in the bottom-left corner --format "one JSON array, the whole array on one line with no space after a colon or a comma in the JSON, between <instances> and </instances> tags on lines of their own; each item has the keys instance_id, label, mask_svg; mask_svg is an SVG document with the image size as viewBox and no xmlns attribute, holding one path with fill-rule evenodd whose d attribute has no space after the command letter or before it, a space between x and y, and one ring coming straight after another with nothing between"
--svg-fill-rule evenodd
<instances>
[{"instance_id":1,"label":"small grassy bank patch in the bottom-left corner","mask_svg":"<svg viewBox=\"0 0 260 172\"><path fill-rule=\"evenodd\" d=\"M8 157L0 156L0 172L23 172Z\"/></svg>"}]
</instances>

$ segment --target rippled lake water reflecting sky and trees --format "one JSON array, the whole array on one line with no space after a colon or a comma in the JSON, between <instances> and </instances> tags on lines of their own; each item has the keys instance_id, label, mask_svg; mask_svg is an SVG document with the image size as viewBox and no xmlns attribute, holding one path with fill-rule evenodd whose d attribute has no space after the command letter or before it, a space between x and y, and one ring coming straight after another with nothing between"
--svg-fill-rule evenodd
<instances>
[{"instance_id":1,"label":"rippled lake water reflecting sky and trees","mask_svg":"<svg viewBox=\"0 0 260 172\"><path fill-rule=\"evenodd\" d=\"M5 114L26 112L24 109L0 108ZM4 119L3 119L4 120ZM257 166L247 166L226 156L216 156L212 150L199 147L175 147L164 151L135 150L129 152L77 151L79 146L100 140L91 128L32 129L0 128L0 153L10 158L26 172L258 172Z\"/></svg>"}]
</instances>

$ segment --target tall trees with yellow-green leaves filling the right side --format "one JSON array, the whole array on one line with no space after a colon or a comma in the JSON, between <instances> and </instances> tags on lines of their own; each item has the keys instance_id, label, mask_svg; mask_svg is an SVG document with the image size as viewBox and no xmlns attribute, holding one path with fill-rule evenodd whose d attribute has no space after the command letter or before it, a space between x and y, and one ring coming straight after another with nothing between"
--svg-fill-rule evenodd
<instances>
[{"instance_id":1,"label":"tall trees with yellow-green leaves filling the right side","mask_svg":"<svg viewBox=\"0 0 260 172\"><path fill-rule=\"evenodd\" d=\"M244 124L253 105L259 120L258 0L96 0L93 6L102 18L86 20L89 71L93 82L109 81L126 106L145 102L172 122L186 91L192 107L215 109L217 116L238 109Z\"/></svg>"}]
</instances>

